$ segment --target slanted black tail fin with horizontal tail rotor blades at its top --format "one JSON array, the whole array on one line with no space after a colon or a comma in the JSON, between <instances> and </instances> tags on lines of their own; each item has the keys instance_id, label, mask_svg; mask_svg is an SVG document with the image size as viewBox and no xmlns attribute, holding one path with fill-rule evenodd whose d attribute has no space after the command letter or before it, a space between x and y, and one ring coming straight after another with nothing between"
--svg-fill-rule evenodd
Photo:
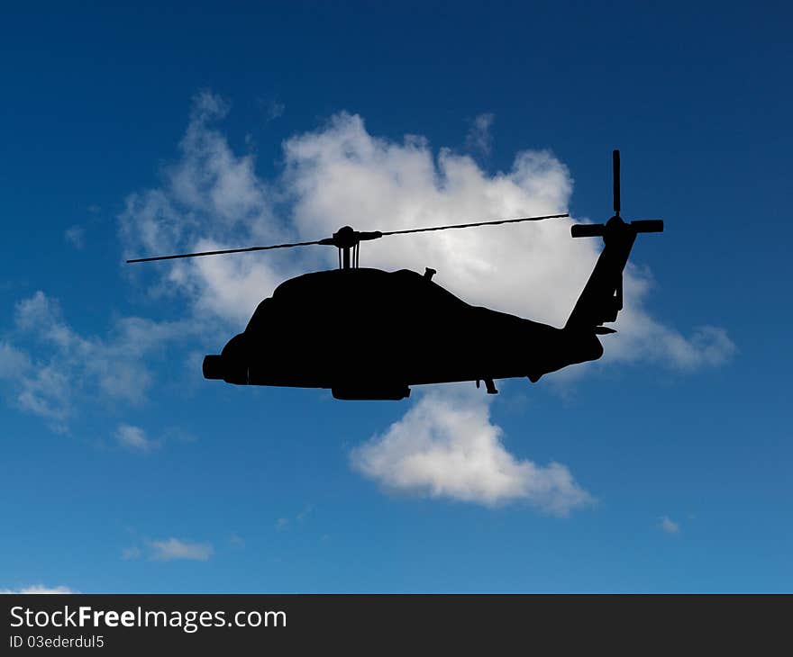
<instances>
[{"instance_id":1,"label":"slanted black tail fin with horizontal tail rotor blades at its top","mask_svg":"<svg viewBox=\"0 0 793 657\"><path fill-rule=\"evenodd\" d=\"M605 225L601 223L572 227L571 234L574 238L601 236L606 246L597 258L595 268L570 313L565 329L612 332L601 324L616 320L617 314L623 309L623 270L631 255L636 234L662 230L661 220L625 223L616 215Z\"/></svg>"}]
</instances>

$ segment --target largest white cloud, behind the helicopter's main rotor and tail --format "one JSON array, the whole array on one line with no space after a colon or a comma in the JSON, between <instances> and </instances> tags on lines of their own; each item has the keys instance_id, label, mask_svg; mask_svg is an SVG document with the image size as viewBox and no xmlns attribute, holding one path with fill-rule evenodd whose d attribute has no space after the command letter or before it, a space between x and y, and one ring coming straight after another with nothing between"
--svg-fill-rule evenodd
<instances>
[{"instance_id":1,"label":"largest white cloud, behind the helicopter's main rotor and tail","mask_svg":"<svg viewBox=\"0 0 793 657\"><path fill-rule=\"evenodd\" d=\"M488 174L466 155L433 152L420 137L378 139L360 116L345 112L319 130L287 139L283 174L265 181L256 175L252 155L235 154L214 128L227 110L217 96L199 95L181 157L166 170L160 189L129 197L120 218L128 255L316 239L346 224L406 229L569 207L570 172L550 151L520 151L508 171ZM276 219L277 202L291 213L291 229ZM433 266L435 280L466 301L561 326L600 248L595 239L571 239L573 222L384 238L361 248L361 264L416 271ZM200 315L209 312L239 326L282 280L305 268L333 266L335 258L332 248L309 247L196 258L148 271L159 277L159 289L186 294ZM642 307L650 289L647 275L631 266L626 309L615 325L620 336L609 341L606 353L672 367L717 364L729 356L734 346L724 329L698 329L686 338L652 319Z\"/></svg>"}]
</instances>

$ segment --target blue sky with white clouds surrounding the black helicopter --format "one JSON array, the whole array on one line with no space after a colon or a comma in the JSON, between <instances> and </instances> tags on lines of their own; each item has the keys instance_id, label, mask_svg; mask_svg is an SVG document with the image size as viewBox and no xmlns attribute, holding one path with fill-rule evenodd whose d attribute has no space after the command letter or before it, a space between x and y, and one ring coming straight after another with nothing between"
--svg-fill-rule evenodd
<instances>
[{"instance_id":1,"label":"blue sky with white clouds surrounding the black helicopter","mask_svg":"<svg viewBox=\"0 0 793 657\"><path fill-rule=\"evenodd\" d=\"M791 17L7 12L0 590L789 591ZM495 400L201 378L275 284L334 254L123 265L348 219L605 220L612 148L624 215L667 227L634 248L620 333L602 363ZM434 266L471 302L563 321L594 240L488 230L382 240L361 261ZM428 453L437 467L412 470Z\"/></svg>"}]
</instances>

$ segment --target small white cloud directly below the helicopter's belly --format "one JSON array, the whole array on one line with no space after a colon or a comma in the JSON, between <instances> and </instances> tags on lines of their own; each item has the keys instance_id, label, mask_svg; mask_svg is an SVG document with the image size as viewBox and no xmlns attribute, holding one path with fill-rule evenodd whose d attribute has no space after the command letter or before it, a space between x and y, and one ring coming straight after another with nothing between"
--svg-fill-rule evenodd
<instances>
[{"instance_id":1,"label":"small white cloud directly below the helicopter's belly","mask_svg":"<svg viewBox=\"0 0 793 657\"><path fill-rule=\"evenodd\" d=\"M506 451L488 401L457 388L426 393L381 436L353 450L352 464L387 490L495 506L524 500L553 515L593 502L562 464Z\"/></svg>"}]
</instances>

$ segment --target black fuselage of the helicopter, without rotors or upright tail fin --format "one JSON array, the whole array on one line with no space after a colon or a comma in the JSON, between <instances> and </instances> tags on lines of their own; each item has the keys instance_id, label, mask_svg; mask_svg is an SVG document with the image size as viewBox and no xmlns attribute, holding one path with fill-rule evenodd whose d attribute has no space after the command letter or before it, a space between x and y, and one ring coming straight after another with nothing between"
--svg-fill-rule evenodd
<instances>
[{"instance_id":1,"label":"black fuselage of the helicopter, without rotors or upright tail fin","mask_svg":"<svg viewBox=\"0 0 793 657\"><path fill-rule=\"evenodd\" d=\"M408 387L528 376L603 353L597 336L471 306L409 270L315 272L278 286L205 376L401 399Z\"/></svg>"}]
</instances>

